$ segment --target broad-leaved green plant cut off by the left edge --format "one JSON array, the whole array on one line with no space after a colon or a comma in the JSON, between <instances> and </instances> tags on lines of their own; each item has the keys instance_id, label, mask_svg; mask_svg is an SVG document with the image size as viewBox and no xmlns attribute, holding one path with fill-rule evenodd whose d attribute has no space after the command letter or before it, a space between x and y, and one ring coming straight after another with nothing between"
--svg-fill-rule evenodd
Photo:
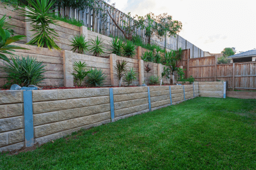
<instances>
[{"instance_id":1,"label":"broad-leaved green plant cut off by the left edge","mask_svg":"<svg viewBox=\"0 0 256 170\"><path fill-rule=\"evenodd\" d=\"M13 37L10 37L10 36L11 34L9 31L0 27L0 59L3 59L7 62L10 62L10 60L5 56L5 54L14 55L13 53L11 53L11 52L15 52L14 49L26 49L16 45L10 45L11 42L20 41L26 36L22 36L22 35L13 36Z\"/></svg>"}]
</instances>

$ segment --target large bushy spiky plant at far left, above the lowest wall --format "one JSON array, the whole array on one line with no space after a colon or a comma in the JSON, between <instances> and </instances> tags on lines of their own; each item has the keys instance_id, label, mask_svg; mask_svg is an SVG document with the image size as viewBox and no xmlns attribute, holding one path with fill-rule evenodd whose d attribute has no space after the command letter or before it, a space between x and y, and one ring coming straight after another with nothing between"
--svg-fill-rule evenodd
<instances>
[{"instance_id":1,"label":"large bushy spiky plant at far left, above the lowest wall","mask_svg":"<svg viewBox=\"0 0 256 170\"><path fill-rule=\"evenodd\" d=\"M28 86L29 84L37 85L42 83L45 79L43 73L45 65L43 62L36 61L36 58L32 57L13 57L11 56L11 62L3 62L3 66L0 66L0 70L6 73L7 84L18 84L20 86Z\"/></svg>"}]
</instances>

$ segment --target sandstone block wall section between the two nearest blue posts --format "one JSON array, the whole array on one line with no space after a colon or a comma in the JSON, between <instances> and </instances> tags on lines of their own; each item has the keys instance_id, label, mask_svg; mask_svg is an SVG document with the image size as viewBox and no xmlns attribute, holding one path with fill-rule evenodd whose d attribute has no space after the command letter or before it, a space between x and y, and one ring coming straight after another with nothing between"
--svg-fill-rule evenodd
<instances>
[{"instance_id":1,"label":"sandstone block wall section between the two nearest blue posts","mask_svg":"<svg viewBox=\"0 0 256 170\"><path fill-rule=\"evenodd\" d=\"M33 91L35 143L110 122L109 88Z\"/></svg>"}]
</instances>

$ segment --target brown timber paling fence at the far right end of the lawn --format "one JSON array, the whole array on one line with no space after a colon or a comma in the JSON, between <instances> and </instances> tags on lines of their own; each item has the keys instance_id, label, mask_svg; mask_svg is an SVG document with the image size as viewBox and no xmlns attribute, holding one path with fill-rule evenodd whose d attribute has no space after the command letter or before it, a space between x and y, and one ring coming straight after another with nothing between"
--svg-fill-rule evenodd
<instances>
[{"instance_id":1,"label":"brown timber paling fence at the far right end of the lawn","mask_svg":"<svg viewBox=\"0 0 256 170\"><path fill-rule=\"evenodd\" d=\"M187 77L193 76L199 82L225 81L232 90L256 90L256 62L217 64L216 56L183 57L187 59Z\"/></svg>"}]
</instances>

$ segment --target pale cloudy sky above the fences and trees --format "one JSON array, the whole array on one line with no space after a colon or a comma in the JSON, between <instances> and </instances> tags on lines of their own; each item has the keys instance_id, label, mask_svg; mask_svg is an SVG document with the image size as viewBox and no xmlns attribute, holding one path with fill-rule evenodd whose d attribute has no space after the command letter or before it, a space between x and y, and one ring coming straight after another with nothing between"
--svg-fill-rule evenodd
<instances>
[{"instance_id":1,"label":"pale cloudy sky above the fences and trees","mask_svg":"<svg viewBox=\"0 0 256 170\"><path fill-rule=\"evenodd\" d=\"M168 13L183 27L179 35L205 52L221 53L234 47L237 53L256 48L256 2L228 0L112 0L131 15Z\"/></svg>"}]
</instances>

